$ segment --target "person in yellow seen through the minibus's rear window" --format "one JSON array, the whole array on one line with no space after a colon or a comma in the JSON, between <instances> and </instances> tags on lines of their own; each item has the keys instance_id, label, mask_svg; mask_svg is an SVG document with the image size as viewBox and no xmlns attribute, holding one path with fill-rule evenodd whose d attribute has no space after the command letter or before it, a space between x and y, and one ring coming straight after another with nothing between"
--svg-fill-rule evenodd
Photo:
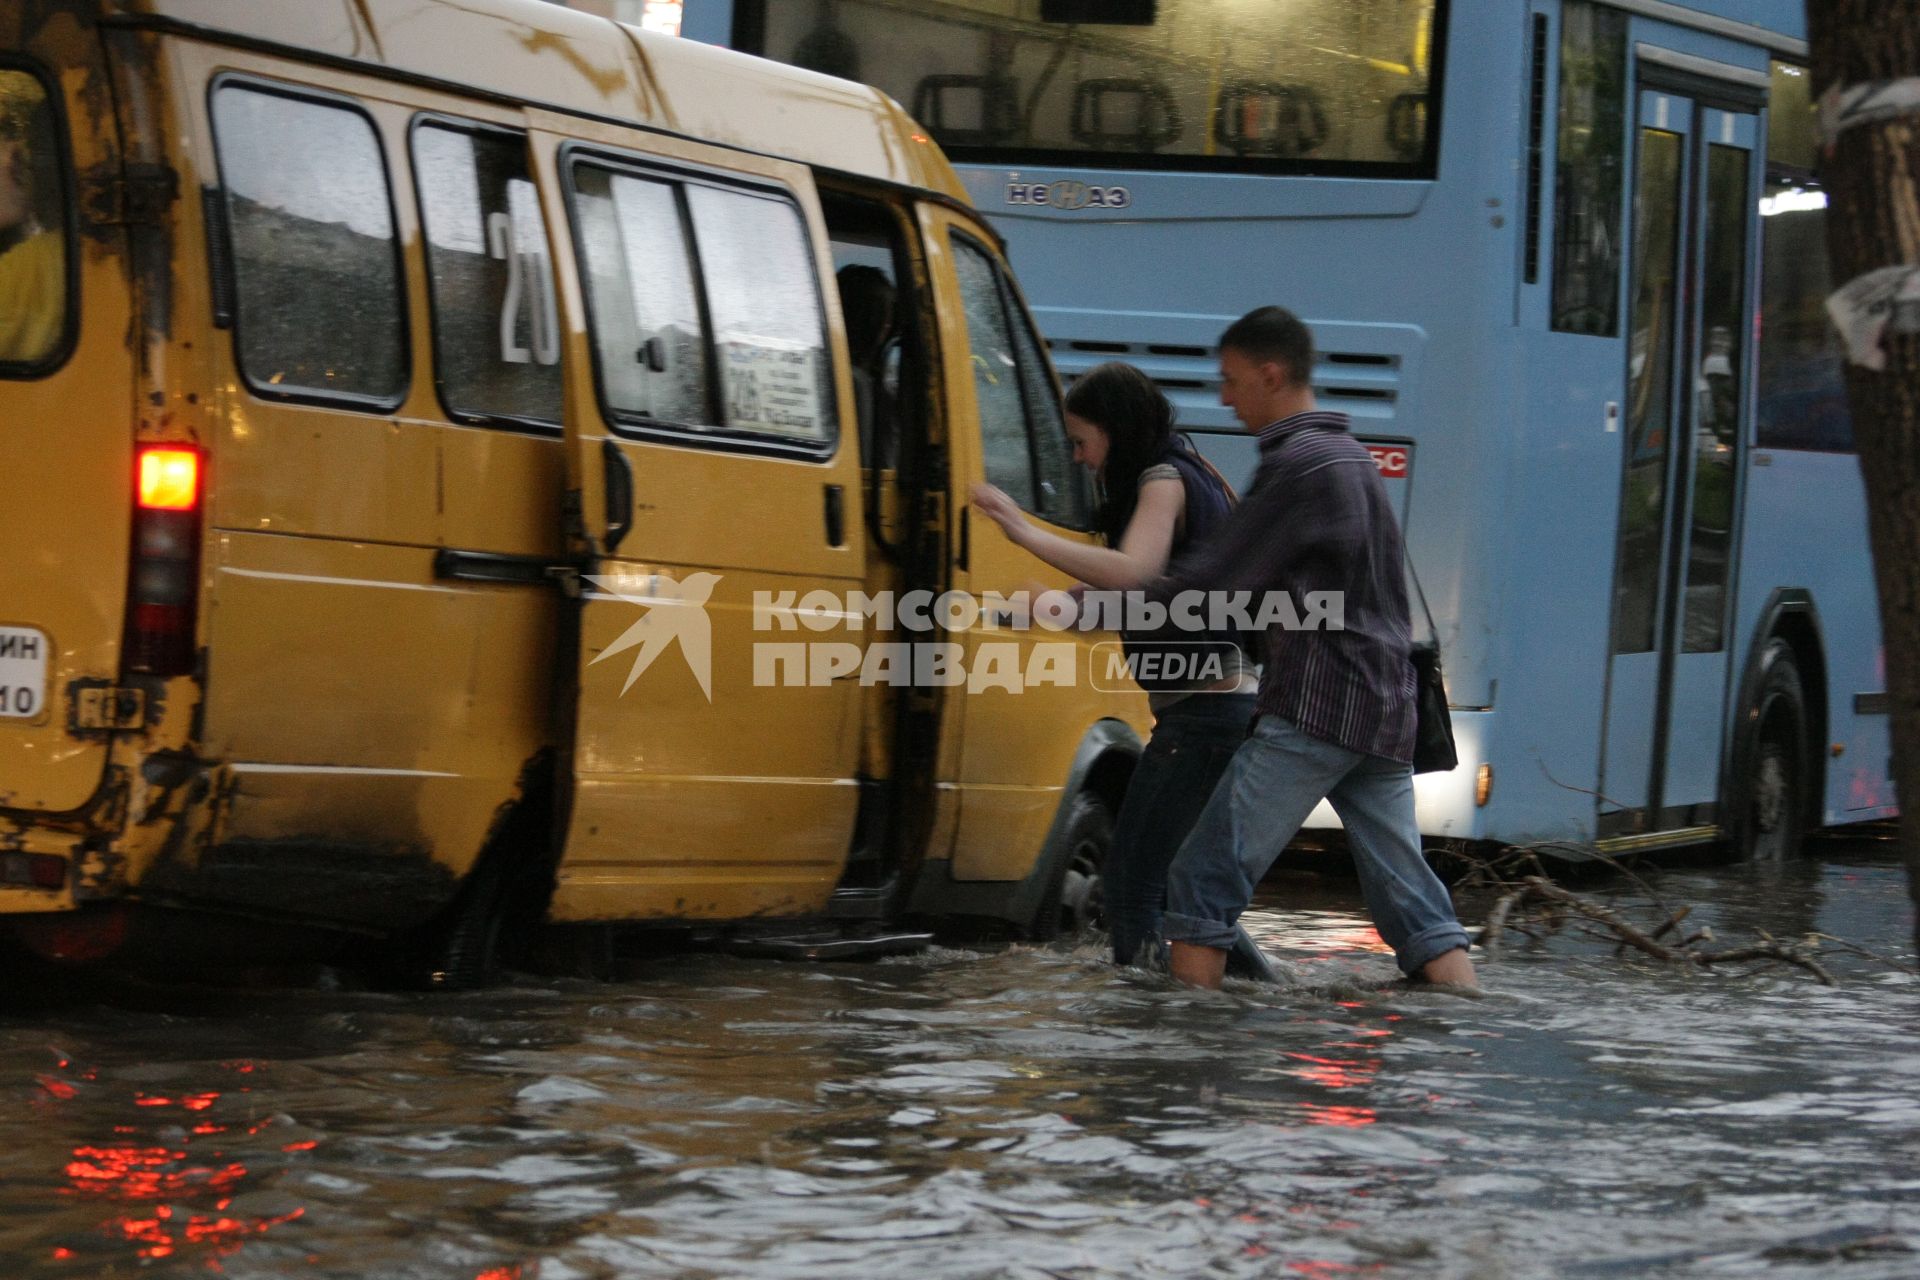
<instances>
[{"instance_id":1,"label":"person in yellow seen through the minibus's rear window","mask_svg":"<svg viewBox=\"0 0 1920 1280\"><path fill-rule=\"evenodd\" d=\"M52 355L65 326L65 248L33 148L0 132L0 363Z\"/></svg>"}]
</instances>

